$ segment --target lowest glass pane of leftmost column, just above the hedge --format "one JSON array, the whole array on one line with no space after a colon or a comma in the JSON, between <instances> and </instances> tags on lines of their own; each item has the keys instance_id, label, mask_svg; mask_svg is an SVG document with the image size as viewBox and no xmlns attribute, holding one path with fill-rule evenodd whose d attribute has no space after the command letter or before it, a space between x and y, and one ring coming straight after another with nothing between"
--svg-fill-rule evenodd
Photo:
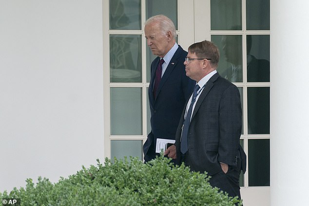
<instances>
[{"instance_id":1,"label":"lowest glass pane of leftmost column, just above the hedge","mask_svg":"<svg viewBox=\"0 0 309 206\"><path fill-rule=\"evenodd\" d=\"M111 159L123 159L123 157L143 158L143 141L142 140L111 140Z\"/></svg>"}]
</instances>

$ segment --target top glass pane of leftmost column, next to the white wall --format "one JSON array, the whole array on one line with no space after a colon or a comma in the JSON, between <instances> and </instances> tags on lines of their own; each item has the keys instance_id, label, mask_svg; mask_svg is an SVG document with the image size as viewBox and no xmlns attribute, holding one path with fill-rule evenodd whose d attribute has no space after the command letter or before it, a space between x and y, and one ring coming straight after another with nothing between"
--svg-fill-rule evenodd
<instances>
[{"instance_id":1,"label":"top glass pane of leftmost column, next to the white wall","mask_svg":"<svg viewBox=\"0 0 309 206\"><path fill-rule=\"evenodd\" d=\"M140 0L110 0L110 29L140 30Z\"/></svg>"}]
</instances>

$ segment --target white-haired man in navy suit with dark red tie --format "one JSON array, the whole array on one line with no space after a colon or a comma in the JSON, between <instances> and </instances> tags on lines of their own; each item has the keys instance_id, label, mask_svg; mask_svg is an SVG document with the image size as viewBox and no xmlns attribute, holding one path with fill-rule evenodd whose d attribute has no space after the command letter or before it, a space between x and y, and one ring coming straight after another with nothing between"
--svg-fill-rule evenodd
<instances>
[{"instance_id":1,"label":"white-haired man in navy suit with dark red tie","mask_svg":"<svg viewBox=\"0 0 309 206\"><path fill-rule=\"evenodd\" d=\"M157 57L151 64L148 96L151 111L151 129L143 146L144 160L159 155L156 140L174 140L183 107L190 97L195 82L186 76L183 61L188 54L175 41L176 29L164 15L145 22L147 45ZM169 154L175 156L174 152Z\"/></svg>"}]
</instances>

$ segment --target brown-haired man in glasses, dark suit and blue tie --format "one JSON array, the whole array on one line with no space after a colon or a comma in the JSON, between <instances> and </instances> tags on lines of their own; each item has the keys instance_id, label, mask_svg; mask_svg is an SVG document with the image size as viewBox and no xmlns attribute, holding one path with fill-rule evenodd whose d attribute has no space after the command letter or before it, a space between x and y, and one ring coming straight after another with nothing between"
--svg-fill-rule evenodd
<instances>
[{"instance_id":1,"label":"brown-haired man in glasses, dark suit and blue tie","mask_svg":"<svg viewBox=\"0 0 309 206\"><path fill-rule=\"evenodd\" d=\"M240 198L239 174L245 171L246 155L239 145L239 91L217 73L219 51L212 42L194 43L188 50L186 75L196 86L176 131L177 163L208 172L213 187Z\"/></svg>"}]
</instances>

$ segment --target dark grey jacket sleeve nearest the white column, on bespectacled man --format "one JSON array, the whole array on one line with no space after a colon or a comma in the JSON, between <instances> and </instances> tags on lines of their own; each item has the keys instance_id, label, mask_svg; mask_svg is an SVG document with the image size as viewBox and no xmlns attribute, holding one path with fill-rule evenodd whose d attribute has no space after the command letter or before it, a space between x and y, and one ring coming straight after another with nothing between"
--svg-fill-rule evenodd
<instances>
[{"instance_id":1,"label":"dark grey jacket sleeve nearest the white column, on bespectacled man","mask_svg":"<svg viewBox=\"0 0 309 206\"><path fill-rule=\"evenodd\" d=\"M236 86L229 86L222 94L219 107L218 161L237 165L239 138L242 128L240 94Z\"/></svg>"}]
</instances>

